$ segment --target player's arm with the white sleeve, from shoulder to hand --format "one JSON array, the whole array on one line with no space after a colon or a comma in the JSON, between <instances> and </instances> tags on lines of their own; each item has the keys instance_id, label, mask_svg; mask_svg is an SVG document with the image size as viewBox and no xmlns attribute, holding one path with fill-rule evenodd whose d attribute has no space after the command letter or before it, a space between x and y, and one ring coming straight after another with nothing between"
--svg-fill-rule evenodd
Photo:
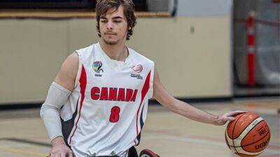
<instances>
[{"instance_id":1,"label":"player's arm with the white sleeve, from shoulder to hand","mask_svg":"<svg viewBox=\"0 0 280 157\"><path fill-rule=\"evenodd\" d=\"M62 63L62 67L57 73L52 83L48 96L41 107L41 118L45 123L52 142L52 149L49 157L52 156L73 156L62 137L62 126L59 117L59 110L66 102L75 86L76 75L78 73L78 54L69 55Z\"/></svg>"}]
</instances>

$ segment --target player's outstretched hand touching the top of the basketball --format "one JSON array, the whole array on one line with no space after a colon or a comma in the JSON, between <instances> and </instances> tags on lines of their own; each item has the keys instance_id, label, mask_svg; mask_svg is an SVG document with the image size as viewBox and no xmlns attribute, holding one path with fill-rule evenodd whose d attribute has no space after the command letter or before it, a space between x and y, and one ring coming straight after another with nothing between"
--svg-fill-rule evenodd
<instances>
[{"instance_id":1,"label":"player's outstretched hand touching the top of the basketball","mask_svg":"<svg viewBox=\"0 0 280 157\"><path fill-rule=\"evenodd\" d=\"M234 121L235 115L241 114L241 113L246 113L246 111L232 111L232 112L227 112L225 114L218 115L216 117L215 125L222 126L227 121Z\"/></svg>"}]
</instances>

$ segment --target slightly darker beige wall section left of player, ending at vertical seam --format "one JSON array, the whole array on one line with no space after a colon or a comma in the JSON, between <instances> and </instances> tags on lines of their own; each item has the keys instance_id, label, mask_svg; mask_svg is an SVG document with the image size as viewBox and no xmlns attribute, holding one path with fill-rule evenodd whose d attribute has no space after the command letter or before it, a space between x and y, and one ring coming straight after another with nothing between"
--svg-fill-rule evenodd
<instances>
[{"instance_id":1,"label":"slightly darker beige wall section left of player, ending at vertical seam","mask_svg":"<svg viewBox=\"0 0 280 157\"><path fill-rule=\"evenodd\" d=\"M66 21L0 20L0 103L36 102L67 54Z\"/></svg>"}]
</instances>

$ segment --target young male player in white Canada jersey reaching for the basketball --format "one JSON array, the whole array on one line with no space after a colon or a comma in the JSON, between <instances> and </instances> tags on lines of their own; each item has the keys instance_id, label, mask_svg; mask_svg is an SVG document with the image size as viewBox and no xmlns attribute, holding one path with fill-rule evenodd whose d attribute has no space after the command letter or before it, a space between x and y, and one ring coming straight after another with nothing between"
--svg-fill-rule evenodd
<instances>
[{"instance_id":1,"label":"young male player in white Canada jersey reaching for the basketball","mask_svg":"<svg viewBox=\"0 0 280 157\"><path fill-rule=\"evenodd\" d=\"M167 93L153 61L125 46L136 24L131 0L97 1L96 10L99 43L67 57L41 107L50 157L137 157L149 98L207 124L223 125L241 113L214 116Z\"/></svg>"}]
</instances>

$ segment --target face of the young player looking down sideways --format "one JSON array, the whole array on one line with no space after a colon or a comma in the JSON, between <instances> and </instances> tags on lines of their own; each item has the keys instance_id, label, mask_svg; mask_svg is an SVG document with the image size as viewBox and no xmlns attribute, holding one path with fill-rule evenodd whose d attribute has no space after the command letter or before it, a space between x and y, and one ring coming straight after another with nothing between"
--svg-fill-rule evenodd
<instances>
[{"instance_id":1,"label":"face of the young player looking down sideways","mask_svg":"<svg viewBox=\"0 0 280 157\"><path fill-rule=\"evenodd\" d=\"M111 8L105 16L100 17L99 30L101 40L108 45L116 45L127 37L127 19L123 13L123 6L117 10Z\"/></svg>"}]
</instances>

